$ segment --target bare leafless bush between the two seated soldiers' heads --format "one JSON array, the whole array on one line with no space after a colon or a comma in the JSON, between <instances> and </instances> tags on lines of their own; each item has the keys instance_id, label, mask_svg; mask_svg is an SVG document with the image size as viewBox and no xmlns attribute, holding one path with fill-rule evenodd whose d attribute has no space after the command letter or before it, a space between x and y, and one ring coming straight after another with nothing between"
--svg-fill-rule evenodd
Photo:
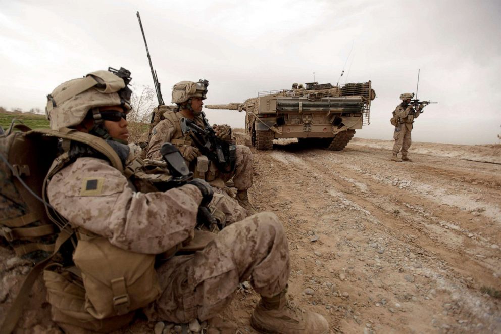
<instances>
[{"instance_id":1,"label":"bare leafless bush between the two seated soldiers' heads","mask_svg":"<svg viewBox=\"0 0 501 334\"><path fill-rule=\"evenodd\" d=\"M129 142L143 142L148 139L148 125L155 105L155 91L148 86L133 86L130 103L132 110L127 114Z\"/></svg>"}]
</instances>

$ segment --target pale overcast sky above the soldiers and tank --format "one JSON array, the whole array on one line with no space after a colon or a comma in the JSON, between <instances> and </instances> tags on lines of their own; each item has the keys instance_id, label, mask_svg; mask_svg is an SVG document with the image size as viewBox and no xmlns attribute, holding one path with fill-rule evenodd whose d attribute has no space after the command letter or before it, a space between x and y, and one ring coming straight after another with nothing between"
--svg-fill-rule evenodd
<instances>
[{"instance_id":1,"label":"pale overcast sky above the soldiers and tank","mask_svg":"<svg viewBox=\"0 0 501 334\"><path fill-rule=\"evenodd\" d=\"M181 80L210 81L206 104L243 102L293 82L372 80L371 124L391 139L403 92L432 100L413 140L492 144L501 133L501 1L0 0L0 106L45 106L58 84L121 66L152 86L141 14L164 100ZM350 52L351 51L351 52ZM206 110L243 127L242 113Z\"/></svg>"}]
</instances>

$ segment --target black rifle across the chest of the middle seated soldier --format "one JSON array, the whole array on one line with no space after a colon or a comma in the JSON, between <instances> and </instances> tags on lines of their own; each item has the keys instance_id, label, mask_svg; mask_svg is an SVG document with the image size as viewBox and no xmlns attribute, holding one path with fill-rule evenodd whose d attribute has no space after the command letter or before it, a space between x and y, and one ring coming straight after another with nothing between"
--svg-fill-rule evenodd
<instances>
[{"instance_id":1,"label":"black rifle across the chest of the middle seated soldier","mask_svg":"<svg viewBox=\"0 0 501 334\"><path fill-rule=\"evenodd\" d=\"M200 152L213 161L221 172L231 173L235 169L236 145L216 136L216 131L209 125L204 112L202 112L202 122L204 128L183 117L181 131L184 135L190 135Z\"/></svg>"}]
</instances>

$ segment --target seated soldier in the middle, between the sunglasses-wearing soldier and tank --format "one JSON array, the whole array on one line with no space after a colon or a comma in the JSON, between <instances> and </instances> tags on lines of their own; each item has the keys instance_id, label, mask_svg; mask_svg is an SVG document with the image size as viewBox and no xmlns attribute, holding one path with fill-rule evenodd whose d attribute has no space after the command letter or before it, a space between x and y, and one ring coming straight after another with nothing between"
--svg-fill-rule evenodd
<instances>
[{"instance_id":1,"label":"seated soldier in the middle, between the sunglasses-wearing soldier and tank","mask_svg":"<svg viewBox=\"0 0 501 334\"><path fill-rule=\"evenodd\" d=\"M172 89L172 103L175 103L178 108L176 112L167 111L164 113L165 119L158 123L152 131L151 139L148 143L146 157L149 159L160 158L160 147L164 142L171 142L179 148L184 159L188 162L194 162L201 156L200 150L196 147L190 135L183 133L181 128L181 119L184 117L199 127L204 127L202 106L204 105L207 94L206 80L199 82L181 81L174 85ZM231 132L231 127L228 125L214 125L216 136L222 140L234 143L235 138ZM224 186L224 182L233 178L233 185L237 189L236 199L238 203L249 211L250 214L256 213L248 200L247 190L252 186L252 153L250 149L243 145L236 145L236 161L234 170L229 173L222 173L215 170L215 174L205 173L205 179L211 185L218 188ZM214 164L214 161L211 161ZM190 164L191 168L194 163ZM211 179L209 179L210 177ZM217 179L223 182L217 184L214 182Z\"/></svg>"}]
</instances>

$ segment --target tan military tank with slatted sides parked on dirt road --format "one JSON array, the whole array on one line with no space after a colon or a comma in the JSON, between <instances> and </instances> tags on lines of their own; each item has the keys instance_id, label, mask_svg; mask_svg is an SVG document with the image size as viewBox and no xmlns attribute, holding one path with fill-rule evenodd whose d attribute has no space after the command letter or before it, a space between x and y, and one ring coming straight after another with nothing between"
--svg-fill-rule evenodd
<instances>
[{"instance_id":1,"label":"tan military tank with slatted sides parked on dirt road","mask_svg":"<svg viewBox=\"0 0 501 334\"><path fill-rule=\"evenodd\" d=\"M375 97L371 81L340 86L309 82L206 108L245 111L245 131L258 150L271 150L273 139L298 138L308 147L341 151L355 130L369 125Z\"/></svg>"}]
</instances>

